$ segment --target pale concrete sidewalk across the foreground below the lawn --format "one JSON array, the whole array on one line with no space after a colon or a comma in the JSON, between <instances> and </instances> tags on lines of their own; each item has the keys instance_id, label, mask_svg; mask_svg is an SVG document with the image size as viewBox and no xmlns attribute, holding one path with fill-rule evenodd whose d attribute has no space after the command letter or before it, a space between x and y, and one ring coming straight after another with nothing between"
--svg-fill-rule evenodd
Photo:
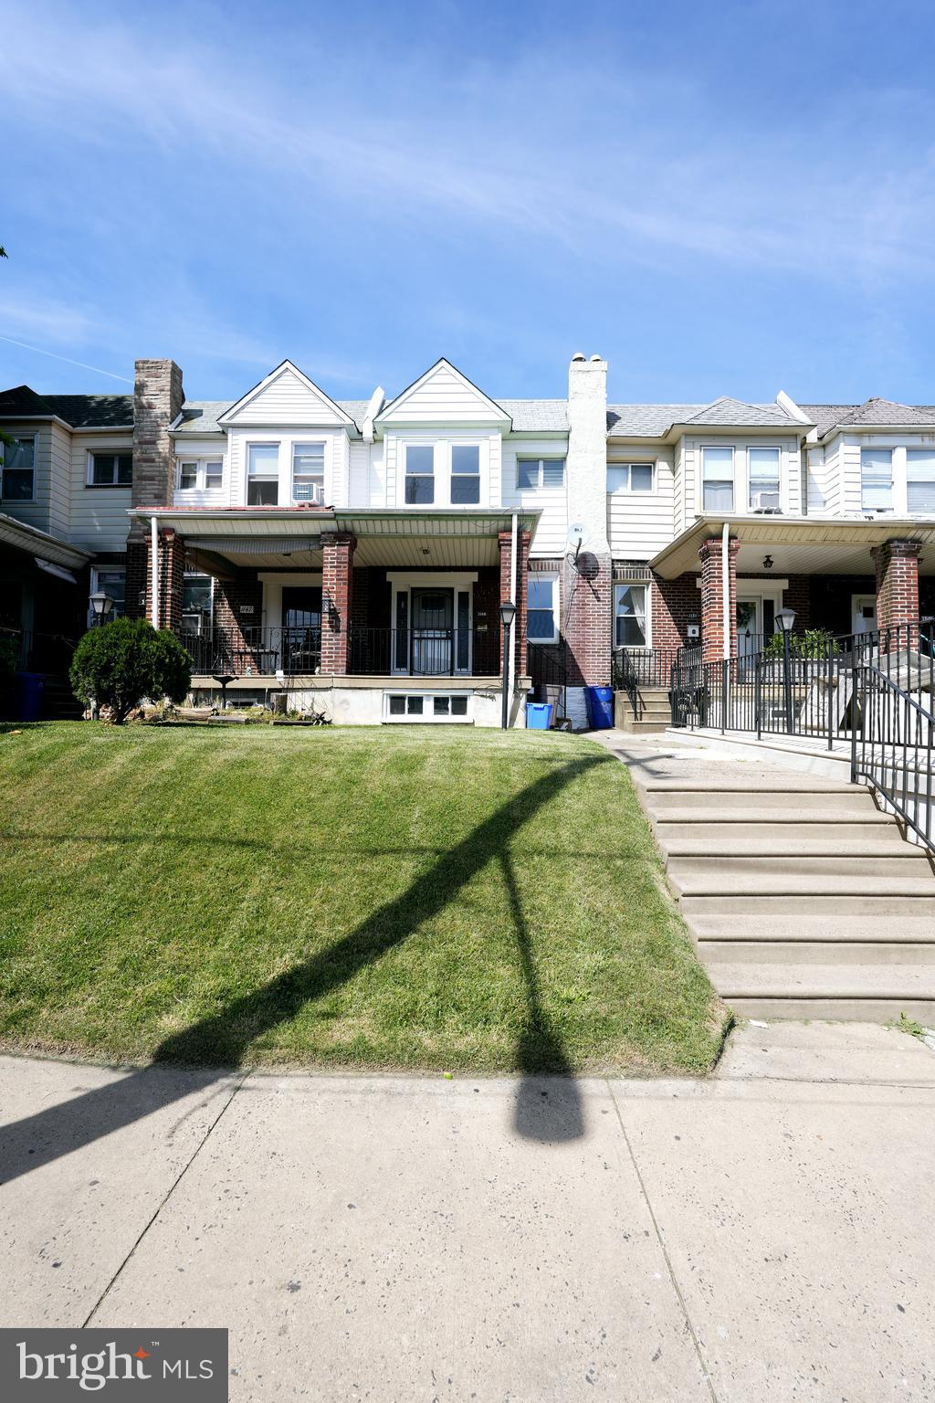
<instances>
[{"instance_id":1,"label":"pale concrete sidewalk across the foreground below the lawn","mask_svg":"<svg viewBox=\"0 0 935 1403\"><path fill-rule=\"evenodd\" d=\"M707 1082L0 1058L3 1324L230 1329L266 1400L925 1399L935 1054L747 1026Z\"/></svg>"}]
</instances>

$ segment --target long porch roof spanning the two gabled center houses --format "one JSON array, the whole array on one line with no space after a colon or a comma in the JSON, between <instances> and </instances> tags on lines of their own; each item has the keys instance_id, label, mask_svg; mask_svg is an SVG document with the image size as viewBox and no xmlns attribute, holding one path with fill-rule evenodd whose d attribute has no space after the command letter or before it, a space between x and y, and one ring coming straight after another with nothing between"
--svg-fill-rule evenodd
<instances>
[{"instance_id":1,"label":"long porch roof spanning the two gabled center houses","mask_svg":"<svg viewBox=\"0 0 935 1403\"><path fill-rule=\"evenodd\" d=\"M516 512L520 529L535 533L540 512ZM133 508L130 516L172 528L199 550L258 568L321 568L322 532L356 536L357 565L495 565L498 536L509 532L505 509L409 506L306 508ZM287 565L286 565L287 560Z\"/></svg>"}]
</instances>

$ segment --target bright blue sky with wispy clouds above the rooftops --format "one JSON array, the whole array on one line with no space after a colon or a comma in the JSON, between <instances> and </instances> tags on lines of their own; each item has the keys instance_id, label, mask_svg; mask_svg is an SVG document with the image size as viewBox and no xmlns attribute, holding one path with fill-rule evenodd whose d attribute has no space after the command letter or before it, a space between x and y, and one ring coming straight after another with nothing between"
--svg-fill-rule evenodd
<instances>
[{"instance_id":1,"label":"bright blue sky with wispy clouds above the rooftops","mask_svg":"<svg viewBox=\"0 0 935 1403\"><path fill-rule=\"evenodd\" d=\"M0 386L935 403L935 7L6 0ZM10 340L56 356L27 351ZM105 375L101 372L111 372Z\"/></svg>"}]
</instances>

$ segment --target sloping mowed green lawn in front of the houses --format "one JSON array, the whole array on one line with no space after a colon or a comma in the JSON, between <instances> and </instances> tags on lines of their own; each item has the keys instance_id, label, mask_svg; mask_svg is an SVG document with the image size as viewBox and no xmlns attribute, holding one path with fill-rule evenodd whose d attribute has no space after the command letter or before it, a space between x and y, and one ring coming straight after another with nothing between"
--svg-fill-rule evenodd
<instances>
[{"instance_id":1,"label":"sloping mowed green lawn in front of the houses","mask_svg":"<svg viewBox=\"0 0 935 1403\"><path fill-rule=\"evenodd\" d=\"M0 728L7 1048L704 1072L723 1017L592 741Z\"/></svg>"}]
</instances>

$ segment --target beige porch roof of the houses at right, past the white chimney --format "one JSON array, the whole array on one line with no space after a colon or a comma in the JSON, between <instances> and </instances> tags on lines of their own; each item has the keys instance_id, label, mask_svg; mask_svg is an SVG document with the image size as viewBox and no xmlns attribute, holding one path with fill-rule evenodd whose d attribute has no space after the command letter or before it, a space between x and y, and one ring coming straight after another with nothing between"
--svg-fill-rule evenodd
<instances>
[{"instance_id":1,"label":"beige porch roof of the houses at right, past the white chimney","mask_svg":"<svg viewBox=\"0 0 935 1403\"><path fill-rule=\"evenodd\" d=\"M777 572L807 575L861 575L873 572L871 546L887 540L935 542L935 521L883 516L699 516L681 536L664 546L649 561L663 579L699 571L701 543L719 536L725 523L740 542L737 571L761 571L764 554L772 556ZM931 560L922 574L935 574Z\"/></svg>"}]
</instances>

